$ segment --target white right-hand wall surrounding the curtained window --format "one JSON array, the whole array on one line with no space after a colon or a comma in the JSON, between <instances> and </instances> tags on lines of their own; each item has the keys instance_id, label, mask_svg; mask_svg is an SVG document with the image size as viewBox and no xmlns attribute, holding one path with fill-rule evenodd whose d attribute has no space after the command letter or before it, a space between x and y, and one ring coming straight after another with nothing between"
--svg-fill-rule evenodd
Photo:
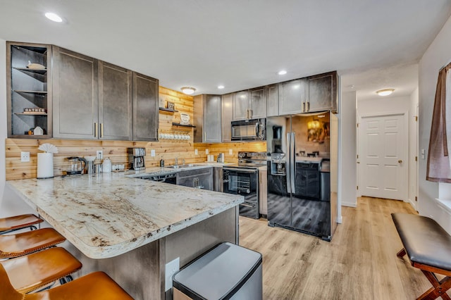
<instances>
[{"instance_id":1,"label":"white right-hand wall surrounding the curtained window","mask_svg":"<svg viewBox=\"0 0 451 300\"><path fill-rule=\"evenodd\" d=\"M443 208L434 199L440 196L451 199L450 184L439 184L426 181L426 162L428 156L429 136L431 134L432 111L437 85L438 71L451 61L451 18L447 20L442 30L428 47L419 62L419 201L418 211L421 215L433 217L451 232L450 226L445 226ZM425 159L421 158L421 149L425 151ZM451 216L448 216L448 220Z\"/></svg>"}]
</instances>

